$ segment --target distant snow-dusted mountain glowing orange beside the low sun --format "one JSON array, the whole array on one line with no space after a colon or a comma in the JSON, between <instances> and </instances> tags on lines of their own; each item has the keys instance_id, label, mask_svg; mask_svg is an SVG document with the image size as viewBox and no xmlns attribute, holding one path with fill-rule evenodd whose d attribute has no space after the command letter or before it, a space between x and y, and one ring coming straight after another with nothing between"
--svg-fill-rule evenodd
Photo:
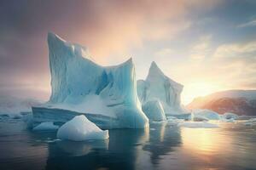
<instances>
[{"instance_id":1,"label":"distant snow-dusted mountain glowing orange beside the low sun","mask_svg":"<svg viewBox=\"0 0 256 170\"><path fill-rule=\"evenodd\" d=\"M256 90L228 90L195 98L188 109L209 109L219 114L256 116Z\"/></svg>"}]
</instances>

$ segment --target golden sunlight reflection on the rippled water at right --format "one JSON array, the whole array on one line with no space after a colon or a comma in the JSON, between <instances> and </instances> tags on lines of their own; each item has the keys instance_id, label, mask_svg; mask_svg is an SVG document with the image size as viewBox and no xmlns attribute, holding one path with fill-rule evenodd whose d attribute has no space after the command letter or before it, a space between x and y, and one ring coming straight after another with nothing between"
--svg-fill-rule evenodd
<instances>
[{"instance_id":1,"label":"golden sunlight reflection on the rippled water at right","mask_svg":"<svg viewBox=\"0 0 256 170\"><path fill-rule=\"evenodd\" d=\"M163 157L159 169L253 169L255 129L224 123L220 128L181 128L182 147ZM255 127L254 127L255 128Z\"/></svg>"}]
</instances>

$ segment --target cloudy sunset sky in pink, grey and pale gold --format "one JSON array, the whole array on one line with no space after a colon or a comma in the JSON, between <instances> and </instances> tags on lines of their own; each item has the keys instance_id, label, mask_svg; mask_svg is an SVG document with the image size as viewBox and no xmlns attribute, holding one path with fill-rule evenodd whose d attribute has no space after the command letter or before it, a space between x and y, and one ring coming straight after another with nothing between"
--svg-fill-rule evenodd
<instances>
[{"instance_id":1,"label":"cloudy sunset sky in pink, grey and pale gold","mask_svg":"<svg viewBox=\"0 0 256 170\"><path fill-rule=\"evenodd\" d=\"M48 99L47 33L76 42L100 65L152 61L183 84L182 102L256 88L254 0L2 0L0 95Z\"/></svg>"}]
</instances>

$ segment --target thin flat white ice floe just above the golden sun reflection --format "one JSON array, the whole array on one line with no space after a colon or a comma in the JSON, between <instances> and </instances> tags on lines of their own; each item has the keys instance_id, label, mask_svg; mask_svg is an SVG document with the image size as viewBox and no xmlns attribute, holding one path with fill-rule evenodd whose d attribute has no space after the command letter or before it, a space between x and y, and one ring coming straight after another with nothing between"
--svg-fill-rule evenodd
<instances>
[{"instance_id":1,"label":"thin flat white ice floe just above the golden sun reflection","mask_svg":"<svg viewBox=\"0 0 256 170\"><path fill-rule=\"evenodd\" d=\"M179 122L178 127L190 127L190 128L216 128L217 124L211 122Z\"/></svg>"}]
</instances>

